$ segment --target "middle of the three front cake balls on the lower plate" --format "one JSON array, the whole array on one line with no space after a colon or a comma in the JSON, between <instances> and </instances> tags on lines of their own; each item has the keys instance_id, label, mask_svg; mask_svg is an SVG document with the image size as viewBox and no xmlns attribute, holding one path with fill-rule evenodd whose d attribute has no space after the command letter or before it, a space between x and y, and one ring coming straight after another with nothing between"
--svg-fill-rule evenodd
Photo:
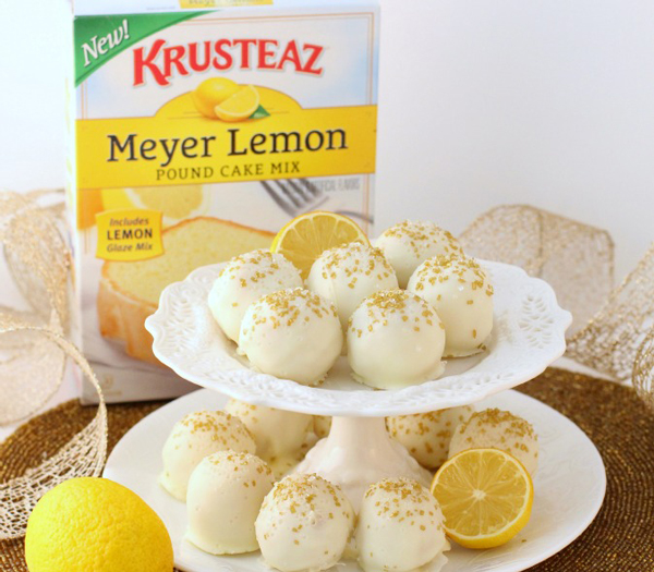
<instances>
[{"instance_id":1,"label":"middle of the three front cake balls on the lower plate","mask_svg":"<svg viewBox=\"0 0 654 572\"><path fill-rule=\"evenodd\" d=\"M255 523L264 560L282 572L336 564L354 528L354 511L338 486L293 474L275 484Z\"/></svg>"}]
</instances>

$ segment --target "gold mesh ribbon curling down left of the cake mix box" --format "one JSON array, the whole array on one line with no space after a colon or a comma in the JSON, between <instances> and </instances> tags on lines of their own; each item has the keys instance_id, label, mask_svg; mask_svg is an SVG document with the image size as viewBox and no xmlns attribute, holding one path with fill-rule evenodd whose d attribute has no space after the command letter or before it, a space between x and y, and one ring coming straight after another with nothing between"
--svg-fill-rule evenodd
<instances>
[{"instance_id":1,"label":"gold mesh ribbon curling down left of the cake mix box","mask_svg":"<svg viewBox=\"0 0 654 572\"><path fill-rule=\"evenodd\" d=\"M53 204L41 206L38 200ZM107 410L100 386L65 338L72 265L60 205L57 192L0 193L4 263L27 305L23 311L0 307L0 425L40 410L61 386L69 358L98 391L99 406L94 419L53 457L0 484L0 539L23 536L32 509L48 489L75 476L99 475L107 454Z\"/></svg>"}]
</instances>

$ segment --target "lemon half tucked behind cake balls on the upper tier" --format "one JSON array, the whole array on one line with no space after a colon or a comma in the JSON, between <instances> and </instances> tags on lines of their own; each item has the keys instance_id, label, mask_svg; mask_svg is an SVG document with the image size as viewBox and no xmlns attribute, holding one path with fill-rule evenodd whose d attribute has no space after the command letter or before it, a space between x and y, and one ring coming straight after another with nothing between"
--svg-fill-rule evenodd
<instances>
[{"instance_id":1,"label":"lemon half tucked behind cake balls on the upper tier","mask_svg":"<svg viewBox=\"0 0 654 572\"><path fill-rule=\"evenodd\" d=\"M302 272L308 276L314 260L327 248L351 242L370 244L359 224L348 217L314 210L295 217L277 233L270 251L283 254Z\"/></svg>"}]
</instances>

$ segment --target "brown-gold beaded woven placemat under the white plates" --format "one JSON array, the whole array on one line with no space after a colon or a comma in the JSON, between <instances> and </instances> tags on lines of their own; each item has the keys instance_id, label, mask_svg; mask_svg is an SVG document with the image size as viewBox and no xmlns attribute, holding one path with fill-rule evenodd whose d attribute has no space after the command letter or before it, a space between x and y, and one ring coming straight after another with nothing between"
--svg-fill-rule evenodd
<instances>
[{"instance_id":1,"label":"brown-gold beaded woven placemat under the white plates","mask_svg":"<svg viewBox=\"0 0 654 572\"><path fill-rule=\"evenodd\" d=\"M595 521L574 543L531 571L653 572L654 415L630 388L561 369L550 368L520 390L560 411L585 431L607 473L606 498ZM161 404L110 405L109 450ZM0 482L37 465L94 414L94 409L70 401L19 428L0 443ZM27 571L22 540L0 543L0 570Z\"/></svg>"}]
</instances>

